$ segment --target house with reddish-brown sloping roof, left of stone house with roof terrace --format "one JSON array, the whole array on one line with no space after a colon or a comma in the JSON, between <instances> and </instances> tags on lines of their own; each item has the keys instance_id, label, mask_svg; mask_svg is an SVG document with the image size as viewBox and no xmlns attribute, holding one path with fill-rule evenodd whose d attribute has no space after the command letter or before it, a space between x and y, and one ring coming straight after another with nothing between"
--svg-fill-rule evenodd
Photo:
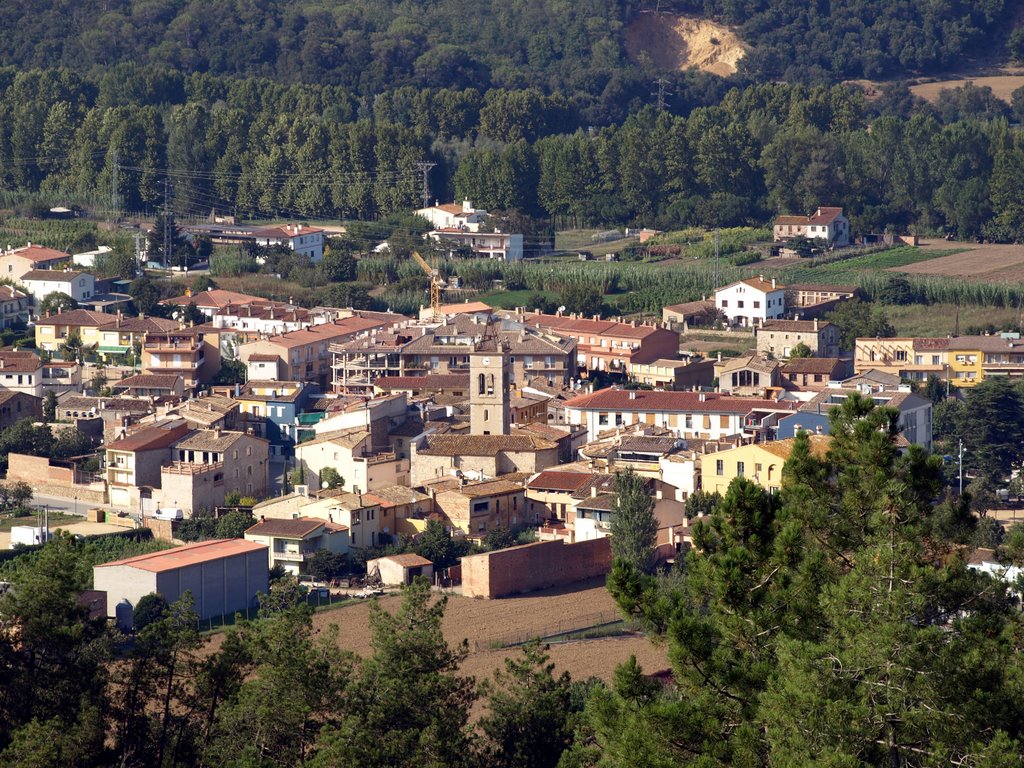
<instances>
[{"instance_id":1,"label":"house with reddish-brown sloping roof, left of stone house with roof terrace","mask_svg":"<svg viewBox=\"0 0 1024 768\"><path fill-rule=\"evenodd\" d=\"M170 447L191 432L182 419L169 419L134 430L106 443L106 485L111 506L137 508L142 486L160 487L160 469Z\"/></svg>"}]
</instances>

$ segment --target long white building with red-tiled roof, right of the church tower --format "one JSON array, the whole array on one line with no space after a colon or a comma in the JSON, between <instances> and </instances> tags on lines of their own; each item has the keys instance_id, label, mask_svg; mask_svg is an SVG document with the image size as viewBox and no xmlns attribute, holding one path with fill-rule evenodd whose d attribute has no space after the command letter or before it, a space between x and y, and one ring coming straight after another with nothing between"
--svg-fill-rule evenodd
<instances>
[{"instance_id":1,"label":"long white building with red-tiled roof, right of the church tower","mask_svg":"<svg viewBox=\"0 0 1024 768\"><path fill-rule=\"evenodd\" d=\"M569 424L587 429L591 440L632 424L670 430L684 439L715 440L729 435L762 435L798 403L715 392L660 392L608 388L567 400Z\"/></svg>"}]
</instances>

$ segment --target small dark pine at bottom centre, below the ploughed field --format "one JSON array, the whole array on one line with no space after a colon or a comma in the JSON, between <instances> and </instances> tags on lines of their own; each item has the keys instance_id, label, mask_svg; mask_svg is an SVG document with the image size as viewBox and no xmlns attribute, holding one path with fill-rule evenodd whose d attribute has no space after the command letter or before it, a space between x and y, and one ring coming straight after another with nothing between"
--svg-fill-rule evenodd
<instances>
[{"instance_id":1,"label":"small dark pine at bottom centre, below the ploughed field","mask_svg":"<svg viewBox=\"0 0 1024 768\"><path fill-rule=\"evenodd\" d=\"M480 684L487 714L479 727L482 760L488 766L555 768L572 741L578 714L567 672L555 677L547 647L535 640L522 654L505 659L494 681Z\"/></svg>"}]
</instances>

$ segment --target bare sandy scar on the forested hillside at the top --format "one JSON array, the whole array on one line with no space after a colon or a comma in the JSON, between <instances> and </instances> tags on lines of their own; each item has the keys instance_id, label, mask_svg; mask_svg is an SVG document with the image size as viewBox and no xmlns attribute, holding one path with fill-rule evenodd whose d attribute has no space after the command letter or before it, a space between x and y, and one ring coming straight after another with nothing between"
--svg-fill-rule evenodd
<instances>
[{"instance_id":1,"label":"bare sandy scar on the forested hillside at the top","mask_svg":"<svg viewBox=\"0 0 1024 768\"><path fill-rule=\"evenodd\" d=\"M692 67L726 77L748 46L728 27L707 18L644 11L626 28L626 50L634 61L649 60L660 70Z\"/></svg>"}]
</instances>

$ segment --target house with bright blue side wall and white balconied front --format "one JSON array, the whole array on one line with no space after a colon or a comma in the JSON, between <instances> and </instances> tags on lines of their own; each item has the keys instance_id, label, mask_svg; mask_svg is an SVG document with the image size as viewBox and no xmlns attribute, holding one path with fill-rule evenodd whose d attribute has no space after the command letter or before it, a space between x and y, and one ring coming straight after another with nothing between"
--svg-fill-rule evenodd
<instances>
[{"instance_id":1,"label":"house with bright blue side wall and white balconied front","mask_svg":"<svg viewBox=\"0 0 1024 768\"><path fill-rule=\"evenodd\" d=\"M234 400L243 429L265 437L271 457L290 457L298 440L299 412L313 389L300 381L250 381L239 387Z\"/></svg>"}]
</instances>

